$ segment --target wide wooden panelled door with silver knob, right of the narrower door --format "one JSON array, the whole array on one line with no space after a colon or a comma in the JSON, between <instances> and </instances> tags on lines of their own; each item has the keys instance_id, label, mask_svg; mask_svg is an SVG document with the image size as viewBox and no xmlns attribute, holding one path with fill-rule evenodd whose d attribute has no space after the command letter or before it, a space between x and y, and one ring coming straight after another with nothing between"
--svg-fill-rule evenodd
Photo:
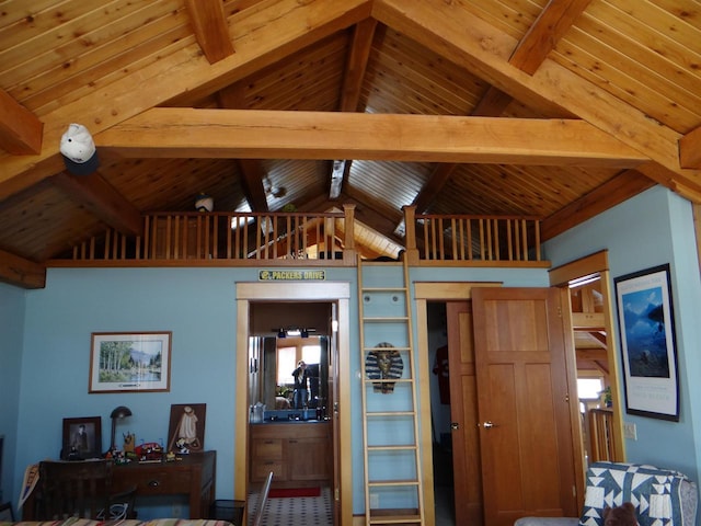
<instances>
[{"instance_id":1,"label":"wide wooden panelled door with silver knob, right of the narrower door","mask_svg":"<svg viewBox=\"0 0 701 526\"><path fill-rule=\"evenodd\" d=\"M474 288L472 307L484 524L577 516L559 291Z\"/></svg>"}]
</instances>

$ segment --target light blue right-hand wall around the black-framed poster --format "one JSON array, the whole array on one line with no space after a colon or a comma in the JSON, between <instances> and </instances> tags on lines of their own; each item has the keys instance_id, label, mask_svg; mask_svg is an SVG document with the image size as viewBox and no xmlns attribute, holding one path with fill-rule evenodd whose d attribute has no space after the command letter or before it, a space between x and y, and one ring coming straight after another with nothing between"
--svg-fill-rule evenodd
<instances>
[{"instance_id":1,"label":"light blue right-hand wall around the black-framed poster","mask_svg":"<svg viewBox=\"0 0 701 526\"><path fill-rule=\"evenodd\" d=\"M660 186L617 206L545 243L553 266L602 249L611 279L670 264L679 361L680 419L668 422L625 414L637 427L627 439L628 460L678 469L699 480L701 467L701 283L691 204ZM609 284L613 290L613 283ZM617 319L618 323L618 319ZM620 348L619 333L611 339ZM622 378L619 379L622 385ZM699 524L699 523L698 523Z\"/></svg>"}]
</instances>

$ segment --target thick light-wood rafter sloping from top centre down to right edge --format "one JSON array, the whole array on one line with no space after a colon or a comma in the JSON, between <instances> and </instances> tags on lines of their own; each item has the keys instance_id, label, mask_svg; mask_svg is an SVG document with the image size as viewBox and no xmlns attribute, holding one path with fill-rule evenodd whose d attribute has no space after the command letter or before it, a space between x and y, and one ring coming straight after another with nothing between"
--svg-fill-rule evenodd
<instances>
[{"instance_id":1,"label":"thick light-wood rafter sloping from top centre down to right edge","mask_svg":"<svg viewBox=\"0 0 701 526\"><path fill-rule=\"evenodd\" d=\"M568 112L635 148L675 174L668 187L701 188L701 171L679 165L677 132L554 60L533 76L515 68L508 64L515 39L478 18L466 24L460 2L376 0L372 16L524 104Z\"/></svg>"}]
</instances>

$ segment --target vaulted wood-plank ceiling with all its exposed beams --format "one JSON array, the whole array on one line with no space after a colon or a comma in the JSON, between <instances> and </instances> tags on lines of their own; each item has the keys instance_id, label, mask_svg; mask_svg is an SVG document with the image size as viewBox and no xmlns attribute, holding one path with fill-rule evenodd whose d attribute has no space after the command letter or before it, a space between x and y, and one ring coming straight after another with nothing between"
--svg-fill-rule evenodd
<instances>
[{"instance_id":1,"label":"vaulted wood-plank ceiling with all its exposed beams","mask_svg":"<svg viewBox=\"0 0 701 526\"><path fill-rule=\"evenodd\" d=\"M0 278L199 192L355 203L400 245L410 204L550 239L654 184L701 202L700 126L692 0L5 0Z\"/></svg>"}]
</instances>

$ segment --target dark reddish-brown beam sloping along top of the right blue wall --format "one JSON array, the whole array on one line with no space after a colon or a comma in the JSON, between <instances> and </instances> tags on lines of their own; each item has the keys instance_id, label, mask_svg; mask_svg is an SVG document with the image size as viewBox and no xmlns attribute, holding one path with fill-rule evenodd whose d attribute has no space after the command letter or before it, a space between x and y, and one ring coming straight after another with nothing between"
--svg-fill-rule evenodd
<instances>
[{"instance_id":1,"label":"dark reddish-brown beam sloping along top of the right blue wall","mask_svg":"<svg viewBox=\"0 0 701 526\"><path fill-rule=\"evenodd\" d=\"M627 170L541 221L540 239L552 239L654 185L636 170Z\"/></svg>"}]
</instances>

